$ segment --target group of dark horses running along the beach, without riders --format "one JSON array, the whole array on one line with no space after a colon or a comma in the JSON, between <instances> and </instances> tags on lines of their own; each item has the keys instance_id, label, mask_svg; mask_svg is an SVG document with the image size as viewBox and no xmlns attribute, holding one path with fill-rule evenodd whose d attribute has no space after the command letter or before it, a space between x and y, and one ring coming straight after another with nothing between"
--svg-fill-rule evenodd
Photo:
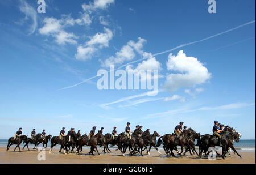
<instances>
[{"instance_id":1,"label":"group of dark horses running along the beach, without riders","mask_svg":"<svg viewBox=\"0 0 256 175\"><path fill-rule=\"evenodd\" d=\"M241 157L241 155L236 151L233 145L234 141L239 142L241 134L232 127L225 126L224 132L220 133L220 135L222 136L222 153L219 154L216 151L217 155L222 157L222 159L225 159L226 154L228 153L229 155L229 149L231 148L234 153L237 153L237 155ZM156 138L158 137L159 139L156 142ZM22 142L24 143L22 150L24 150L24 147L26 146L28 148L28 143L34 144L34 149L38 149L38 145L40 143L43 144L43 147L44 145L46 145L47 147L47 143L49 140L51 140L51 148L49 149L49 153L52 152L54 146L59 144L60 150L58 153L60 153L63 149L65 154L67 154L70 150L71 153L77 153L77 155L80 154L83 146L89 146L89 154L92 155L94 155L94 152L97 152L98 155L100 155L97 146L103 147L104 149L102 151L104 153L111 152L109 146L117 146L116 150L121 151L123 156L125 156L127 148L130 152L130 155L139 153L141 156L143 156L144 150L146 150L147 154L150 155L150 150L152 147L154 147L155 150L161 154L161 152L158 150L158 147L163 144L163 149L166 153L166 156L168 157L175 157L173 152L173 150L175 150L177 152L177 155L180 156L183 152L183 155L185 155L185 153L189 151L191 155L196 153L196 155L201 158L202 155L209 155L209 153L211 152L209 148L218 146L218 138L216 136L210 134L200 135L200 133L196 133L196 131L191 128L184 130L182 133L180 133L180 136L178 138L173 133L160 136L158 132L154 131L153 134L150 134L150 129L147 129L144 132L142 130L134 131L130 135L130 139L127 138L126 134L123 132L120 133L118 136L115 136L115 138L113 139L111 134L108 133L103 135L102 130L99 130L98 133L95 136L92 136L90 139L88 139L88 135L80 135L75 131L69 132L67 135L63 136L62 139L59 139L59 136L53 136L51 138L51 135L48 135L43 139L41 134L35 135L33 139L28 138L26 135L22 135L15 141L14 138L11 137L8 140L7 151L13 144L17 145L14 151L17 147L20 151L19 145ZM196 140L197 143L195 144ZM177 146L180 146L181 152L177 150ZM195 146L199 146L199 153L197 153Z\"/></svg>"}]
</instances>

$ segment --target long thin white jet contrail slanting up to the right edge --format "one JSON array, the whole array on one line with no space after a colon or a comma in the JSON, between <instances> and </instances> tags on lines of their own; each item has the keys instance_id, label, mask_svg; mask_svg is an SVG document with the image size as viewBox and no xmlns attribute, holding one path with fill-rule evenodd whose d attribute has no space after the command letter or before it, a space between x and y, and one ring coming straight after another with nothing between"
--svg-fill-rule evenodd
<instances>
[{"instance_id":1,"label":"long thin white jet contrail slanting up to the right edge","mask_svg":"<svg viewBox=\"0 0 256 175\"><path fill-rule=\"evenodd\" d=\"M155 54L153 54L152 56L159 56L160 54L164 54L164 53L167 53L167 52L171 52L172 50L176 50L176 49L179 49L179 48L183 48L184 46L188 46L188 45L196 44L196 43L198 43L198 42L202 42L202 41L205 41L205 40L209 40L209 39L212 39L213 37L216 37L216 36L219 36L219 35L223 35L224 33L228 33L228 32L234 31L235 29L244 27L244 26L249 25L249 24L252 24L252 23L255 23L255 20L252 20L251 22L247 22L247 23L242 24L242 25L238 25L237 27L234 27L234 28L232 28L232 29L228 29L228 30L226 30L226 31L224 31L224 32L217 33L216 35L212 35L212 36L206 37L206 38L201 39L201 40L198 40L198 41L193 41L193 42L189 42L189 43L186 43L186 44L181 44L181 45L179 45L179 46L176 46L175 48L172 48L172 49L169 49L169 50L165 50L165 51L163 51L163 52L155 53ZM118 69L121 69L122 67L125 67L125 66L127 66L127 65L129 65L129 64L131 64L131 63L135 63L135 62L142 61L143 59L145 59L145 58L137 59L137 60L135 60L135 61L126 63L125 65L122 65L122 66L118 67ZM64 87L64 88L61 88L61 89L59 89L59 90L64 90L64 89L69 89L69 88L72 88L72 87L76 87L76 86L78 86L79 84L88 82L89 80L91 80L91 79L93 79L93 78L96 78L96 77L97 77L97 76L93 76L93 77L91 77L91 78L88 78L88 79L86 79L86 80L83 80L83 81L80 82L80 83L76 83L76 84L74 84L74 85L72 85L72 86Z\"/></svg>"}]
</instances>

